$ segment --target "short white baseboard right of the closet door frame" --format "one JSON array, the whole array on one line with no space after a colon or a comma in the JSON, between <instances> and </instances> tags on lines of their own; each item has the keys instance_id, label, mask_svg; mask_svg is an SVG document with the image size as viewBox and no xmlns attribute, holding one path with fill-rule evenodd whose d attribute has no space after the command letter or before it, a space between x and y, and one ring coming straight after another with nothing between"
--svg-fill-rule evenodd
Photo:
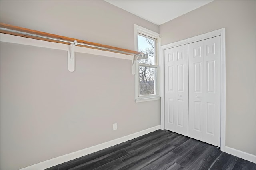
<instances>
[{"instance_id":1,"label":"short white baseboard right of the closet door frame","mask_svg":"<svg viewBox=\"0 0 256 170\"><path fill-rule=\"evenodd\" d=\"M228 154L232 154L234 156L237 156L239 158L248 160L248 161L253 162L253 163L256 164L256 155L249 154L249 153L246 153L246 152L243 152L241 150L234 149L234 148L230 148L228 146L225 146L224 152L226 152Z\"/></svg>"}]
</instances>

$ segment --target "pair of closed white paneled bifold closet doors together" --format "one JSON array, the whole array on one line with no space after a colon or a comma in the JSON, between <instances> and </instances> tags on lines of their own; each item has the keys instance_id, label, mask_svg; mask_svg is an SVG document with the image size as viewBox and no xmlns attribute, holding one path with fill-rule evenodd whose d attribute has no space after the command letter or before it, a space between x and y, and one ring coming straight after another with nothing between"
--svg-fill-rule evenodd
<instances>
[{"instance_id":1,"label":"pair of closed white paneled bifold closet doors together","mask_svg":"<svg viewBox=\"0 0 256 170\"><path fill-rule=\"evenodd\" d=\"M165 128L220 146L220 36L164 50Z\"/></svg>"}]
</instances>

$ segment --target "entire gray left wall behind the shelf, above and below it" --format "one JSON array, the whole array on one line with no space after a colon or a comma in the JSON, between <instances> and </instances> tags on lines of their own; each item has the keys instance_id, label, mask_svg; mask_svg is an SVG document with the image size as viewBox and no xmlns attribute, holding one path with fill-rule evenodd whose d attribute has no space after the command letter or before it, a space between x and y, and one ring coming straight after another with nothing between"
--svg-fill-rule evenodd
<instances>
[{"instance_id":1,"label":"entire gray left wall behind the shelf, above and below it","mask_svg":"<svg viewBox=\"0 0 256 170\"><path fill-rule=\"evenodd\" d=\"M134 49L134 24L104 1L1 1L1 22ZM160 101L135 103L131 61L1 43L1 169L18 169L160 124ZM118 123L118 130L112 124Z\"/></svg>"}]
</instances>

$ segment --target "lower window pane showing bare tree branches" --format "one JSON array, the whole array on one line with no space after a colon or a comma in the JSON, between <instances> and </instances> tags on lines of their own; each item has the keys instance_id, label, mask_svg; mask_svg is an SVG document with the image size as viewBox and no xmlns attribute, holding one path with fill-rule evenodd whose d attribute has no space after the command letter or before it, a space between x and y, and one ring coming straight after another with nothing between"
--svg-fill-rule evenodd
<instances>
[{"instance_id":1,"label":"lower window pane showing bare tree branches","mask_svg":"<svg viewBox=\"0 0 256 170\"><path fill-rule=\"evenodd\" d=\"M139 66L140 95L154 95L156 68Z\"/></svg>"}]
</instances>

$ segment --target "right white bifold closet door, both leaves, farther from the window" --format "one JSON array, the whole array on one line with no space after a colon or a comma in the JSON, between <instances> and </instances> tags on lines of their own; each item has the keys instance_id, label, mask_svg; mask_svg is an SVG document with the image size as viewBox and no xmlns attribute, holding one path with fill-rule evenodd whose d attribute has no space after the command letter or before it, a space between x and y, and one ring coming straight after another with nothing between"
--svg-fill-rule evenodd
<instances>
[{"instance_id":1,"label":"right white bifold closet door, both leaves, farther from the window","mask_svg":"<svg viewBox=\"0 0 256 170\"><path fill-rule=\"evenodd\" d=\"M220 146L220 36L188 44L188 136Z\"/></svg>"}]
</instances>

